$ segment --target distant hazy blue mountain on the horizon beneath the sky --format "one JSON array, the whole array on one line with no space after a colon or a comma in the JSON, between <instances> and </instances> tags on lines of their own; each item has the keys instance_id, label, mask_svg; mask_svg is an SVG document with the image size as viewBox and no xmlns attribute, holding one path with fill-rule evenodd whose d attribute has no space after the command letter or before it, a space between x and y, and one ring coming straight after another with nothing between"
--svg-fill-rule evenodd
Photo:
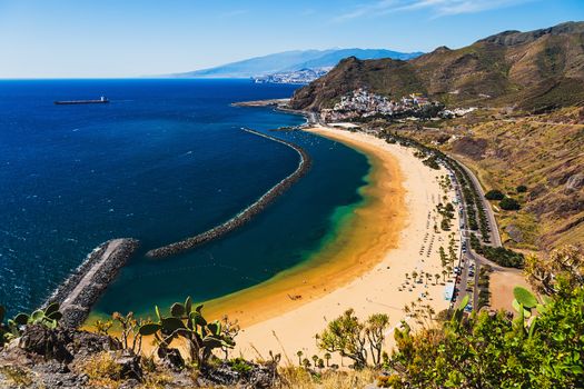
<instances>
[{"instance_id":1,"label":"distant hazy blue mountain on the horizon beneath the sky","mask_svg":"<svg viewBox=\"0 0 584 389\"><path fill-rule=\"evenodd\" d=\"M364 60L376 58L407 60L419 54L422 53L405 53L383 49L296 50L250 58L244 61L227 63L210 69L171 74L171 77L250 78L297 71L301 69L334 67L342 59L347 57L355 57Z\"/></svg>"}]
</instances>

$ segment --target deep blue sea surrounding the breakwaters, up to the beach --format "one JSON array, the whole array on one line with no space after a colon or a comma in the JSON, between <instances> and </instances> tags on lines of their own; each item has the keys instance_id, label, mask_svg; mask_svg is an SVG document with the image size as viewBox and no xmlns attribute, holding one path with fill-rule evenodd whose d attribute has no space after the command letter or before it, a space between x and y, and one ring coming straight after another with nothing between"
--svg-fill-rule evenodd
<instances>
[{"instance_id":1,"label":"deep blue sea surrounding the breakwaters, up to the beach","mask_svg":"<svg viewBox=\"0 0 584 389\"><path fill-rule=\"evenodd\" d=\"M298 156L240 130L296 126L299 116L234 101L289 97L247 80L0 81L0 303L31 310L101 242L136 238L142 252L97 306L137 312L220 297L310 260L338 207L358 203L369 164L305 132L314 164L244 228L186 255L149 249L225 221L296 169ZM95 99L109 104L55 106Z\"/></svg>"}]
</instances>

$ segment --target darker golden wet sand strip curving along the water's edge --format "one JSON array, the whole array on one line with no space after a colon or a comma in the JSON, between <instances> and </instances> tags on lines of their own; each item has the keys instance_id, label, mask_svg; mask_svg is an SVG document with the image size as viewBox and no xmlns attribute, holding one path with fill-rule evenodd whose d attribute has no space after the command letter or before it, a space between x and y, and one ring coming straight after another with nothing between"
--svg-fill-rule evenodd
<instances>
[{"instance_id":1,"label":"darker golden wet sand strip curving along the water's edge","mask_svg":"<svg viewBox=\"0 0 584 389\"><path fill-rule=\"evenodd\" d=\"M249 327L347 285L397 247L406 217L397 160L390 154L379 158L370 144L344 143L364 152L372 166L369 183L360 190L365 201L348 220L343 220L334 231L335 237L308 261L258 286L207 302L207 317L227 315L241 327Z\"/></svg>"}]
</instances>

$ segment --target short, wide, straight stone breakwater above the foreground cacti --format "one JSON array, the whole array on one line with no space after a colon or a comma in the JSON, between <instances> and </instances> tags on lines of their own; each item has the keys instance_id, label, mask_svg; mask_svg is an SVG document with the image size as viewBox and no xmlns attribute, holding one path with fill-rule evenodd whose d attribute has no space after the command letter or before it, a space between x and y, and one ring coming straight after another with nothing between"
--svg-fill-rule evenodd
<instances>
[{"instance_id":1,"label":"short, wide, straight stone breakwater above the foreground cacti","mask_svg":"<svg viewBox=\"0 0 584 389\"><path fill-rule=\"evenodd\" d=\"M135 239L113 239L98 246L75 272L49 297L44 306L59 302L66 327L83 323L90 308L118 271L138 249Z\"/></svg>"}]
</instances>

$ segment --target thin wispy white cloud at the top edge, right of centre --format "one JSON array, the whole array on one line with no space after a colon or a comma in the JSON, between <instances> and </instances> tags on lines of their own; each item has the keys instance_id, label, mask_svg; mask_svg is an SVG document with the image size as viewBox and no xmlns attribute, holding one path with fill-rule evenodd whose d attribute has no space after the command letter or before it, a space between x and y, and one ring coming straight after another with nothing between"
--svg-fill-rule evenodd
<instances>
[{"instance_id":1,"label":"thin wispy white cloud at the top edge, right of centre","mask_svg":"<svg viewBox=\"0 0 584 389\"><path fill-rule=\"evenodd\" d=\"M343 22L362 17L375 17L394 12L427 10L433 18L461 13L477 13L512 7L534 0L377 0L362 3L355 9L334 18Z\"/></svg>"}]
</instances>

